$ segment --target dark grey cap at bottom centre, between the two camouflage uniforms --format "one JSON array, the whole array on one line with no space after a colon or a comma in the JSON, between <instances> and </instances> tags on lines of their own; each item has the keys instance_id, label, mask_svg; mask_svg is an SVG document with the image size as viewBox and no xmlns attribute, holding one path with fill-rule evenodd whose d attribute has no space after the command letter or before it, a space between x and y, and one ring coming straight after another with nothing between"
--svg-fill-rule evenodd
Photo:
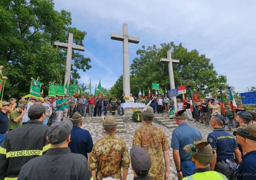
<instances>
[{"instance_id":1,"label":"dark grey cap at bottom centre, between the two camouflage uniforms","mask_svg":"<svg viewBox=\"0 0 256 180\"><path fill-rule=\"evenodd\" d=\"M139 145L133 146L130 151L130 157L131 165L136 174L145 175L149 173L151 158L146 150Z\"/></svg>"}]
</instances>

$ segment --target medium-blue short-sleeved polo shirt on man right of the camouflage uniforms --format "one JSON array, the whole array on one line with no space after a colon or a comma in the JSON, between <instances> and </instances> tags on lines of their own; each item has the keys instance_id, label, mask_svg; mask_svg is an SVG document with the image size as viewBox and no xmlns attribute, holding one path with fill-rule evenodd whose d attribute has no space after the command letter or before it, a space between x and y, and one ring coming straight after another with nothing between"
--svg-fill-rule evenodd
<instances>
[{"instance_id":1,"label":"medium-blue short-sleeved polo shirt on man right of the camouflage uniforms","mask_svg":"<svg viewBox=\"0 0 256 180\"><path fill-rule=\"evenodd\" d=\"M191 157L183 150L183 148L185 145L192 144L192 142L200 137L202 137L202 134L198 129L184 122L172 132L171 148L174 150L179 150L180 160L191 160Z\"/></svg>"}]
</instances>

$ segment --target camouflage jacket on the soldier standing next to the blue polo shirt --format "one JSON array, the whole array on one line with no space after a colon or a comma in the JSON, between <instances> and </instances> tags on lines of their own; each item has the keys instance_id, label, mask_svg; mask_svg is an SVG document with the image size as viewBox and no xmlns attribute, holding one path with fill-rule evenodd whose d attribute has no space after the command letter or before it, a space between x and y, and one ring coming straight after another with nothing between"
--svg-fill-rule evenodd
<instances>
[{"instance_id":1,"label":"camouflage jacket on the soldier standing next to the blue polo shirt","mask_svg":"<svg viewBox=\"0 0 256 180\"><path fill-rule=\"evenodd\" d=\"M134 132L134 145L140 145L151 157L152 165L149 170L149 176L154 180L164 180L163 152L170 150L165 133L161 129L154 127L152 123L143 124L142 127L139 127Z\"/></svg>"}]
</instances>

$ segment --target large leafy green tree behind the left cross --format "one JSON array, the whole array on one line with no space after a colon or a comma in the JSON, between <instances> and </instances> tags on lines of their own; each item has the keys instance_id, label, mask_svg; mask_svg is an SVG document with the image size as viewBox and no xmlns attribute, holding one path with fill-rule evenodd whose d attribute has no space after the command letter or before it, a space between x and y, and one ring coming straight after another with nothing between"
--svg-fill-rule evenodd
<instances>
[{"instance_id":1,"label":"large leafy green tree behind the left cross","mask_svg":"<svg viewBox=\"0 0 256 180\"><path fill-rule=\"evenodd\" d=\"M0 65L8 77L5 99L28 94L31 77L40 77L44 92L49 81L64 81L66 50L53 43L67 43L68 33L74 34L74 43L83 45L86 32L71 27L71 13L54 10L53 0L0 1ZM78 52L72 59L71 76L79 79L77 70L91 68L91 60Z\"/></svg>"}]
</instances>

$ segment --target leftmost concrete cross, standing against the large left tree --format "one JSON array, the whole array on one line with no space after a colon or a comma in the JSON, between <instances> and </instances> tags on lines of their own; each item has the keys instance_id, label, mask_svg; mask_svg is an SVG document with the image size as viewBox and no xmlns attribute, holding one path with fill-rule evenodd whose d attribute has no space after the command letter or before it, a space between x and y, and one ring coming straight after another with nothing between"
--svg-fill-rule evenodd
<instances>
[{"instance_id":1,"label":"leftmost concrete cross, standing against the large left tree","mask_svg":"<svg viewBox=\"0 0 256 180\"><path fill-rule=\"evenodd\" d=\"M66 71L65 71L65 81L64 86L67 82L70 83L70 74L71 74L71 59L72 59L72 50L84 51L84 46L78 46L73 44L73 34L68 34L68 43L54 42L54 45L59 46L60 48L68 49L67 51L67 61L66 61Z\"/></svg>"}]
</instances>

